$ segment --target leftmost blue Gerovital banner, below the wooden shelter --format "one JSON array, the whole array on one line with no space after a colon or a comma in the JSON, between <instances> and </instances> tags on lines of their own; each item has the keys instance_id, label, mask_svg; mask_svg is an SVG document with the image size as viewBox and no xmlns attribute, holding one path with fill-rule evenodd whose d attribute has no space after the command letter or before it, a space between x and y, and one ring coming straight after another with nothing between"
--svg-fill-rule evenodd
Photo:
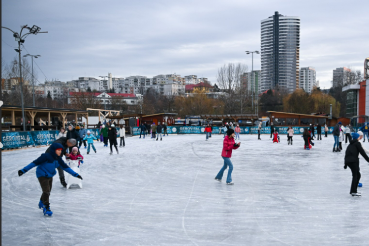
<instances>
[{"instance_id":1,"label":"leftmost blue Gerovital banner, below the wooden shelter","mask_svg":"<svg viewBox=\"0 0 369 246\"><path fill-rule=\"evenodd\" d=\"M1 132L2 149L33 146L34 142L30 132Z\"/></svg>"}]
</instances>

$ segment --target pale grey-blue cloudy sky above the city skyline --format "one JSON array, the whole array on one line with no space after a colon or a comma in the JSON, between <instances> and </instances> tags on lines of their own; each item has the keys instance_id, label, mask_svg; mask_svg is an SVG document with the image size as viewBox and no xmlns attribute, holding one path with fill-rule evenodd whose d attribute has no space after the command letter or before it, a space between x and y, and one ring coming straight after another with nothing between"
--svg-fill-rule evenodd
<instances>
[{"instance_id":1,"label":"pale grey-blue cloudy sky above the city skyline","mask_svg":"<svg viewBox=\"0 0 369 246\"><path fill-rule=\"evenodd\" d=\"M245 51L260 50L260 21L279 11L301 17L300 65L315 67L320 86L329 88L336 67L364 70L368 9L368 0L1 0L1 26L49 32L27 37L23 50L42 56L37 64L49 80L177 73L214 84L224 63L251 70ZM16 56L10 47L16 45L2 29L6 61Z\"/></svg>"}]
</instances>

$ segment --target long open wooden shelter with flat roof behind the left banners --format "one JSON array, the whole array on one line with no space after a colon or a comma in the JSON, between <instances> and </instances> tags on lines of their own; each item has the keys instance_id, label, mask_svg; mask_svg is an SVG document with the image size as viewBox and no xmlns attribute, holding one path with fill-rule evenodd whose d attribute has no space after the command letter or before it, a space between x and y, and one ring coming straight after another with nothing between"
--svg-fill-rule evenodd
<instances>
[{"instance_id":1,"label":"long open wooden shelter with flat roof behind the left banners","mask_svg":"<svg viewBox=\"0 0 369 246\"><path fill-rule=\"evenodd\" d=\"M25 107L26 130L58 130L67 123L67 117L72 116L73 120L85 117L87 124L89 121L89 111L75 109L56 109L43 107ZM7 127L3 125L1 131L21 131L22 124L22 107L13 105L3 105L1 107L1 117L10 119L11 124ZM28 123L30 122L30 123Z\"/></svg>"}]
</instances>

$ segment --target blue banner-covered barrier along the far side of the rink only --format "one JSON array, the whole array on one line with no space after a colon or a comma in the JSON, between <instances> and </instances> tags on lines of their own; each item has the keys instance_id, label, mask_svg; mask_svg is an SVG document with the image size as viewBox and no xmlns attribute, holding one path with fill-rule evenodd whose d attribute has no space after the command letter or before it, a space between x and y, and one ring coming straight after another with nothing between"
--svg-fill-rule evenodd
<instances>
[{"instance_id":1,"label":"blue banner-covered barrier along the far side of the rink only","mask_svg":"<svg viewBox=\"0 0 369 246\"><path fill-rule=\"evenodd\" d=\"M301 127L301 126L293 126L292 129L295 135L303 134L305 128L308 126ZM223 134L223 130L220 129L219 126L213 126L213 134ZM258 134L258 127L257 126L242 126L241 134ZM274 127L279 134L287 134L288 126L275 126ZM328 127L329 131L328 134L332 134L334 127ZM360 127L353 127L355 132L359 130ZM206 134L205 126L168 126L167 129L168 134ZM271 127L262 127L261 134L270 134ZM315 129L315 134L317 134L317 130ZM322 134L325 134L324 127L322 127ZM132 135L138 136L140 135L139 127L132 127Z\"/></svg>"}]
</instances>

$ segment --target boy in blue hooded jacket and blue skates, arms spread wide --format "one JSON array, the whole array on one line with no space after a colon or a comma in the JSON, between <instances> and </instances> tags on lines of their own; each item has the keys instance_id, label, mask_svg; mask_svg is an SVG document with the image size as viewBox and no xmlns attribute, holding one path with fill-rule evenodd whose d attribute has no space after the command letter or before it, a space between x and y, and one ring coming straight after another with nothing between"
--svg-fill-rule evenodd
<instances>
[{"instance_id":1,"label":"boy in blue hooded jacket and blue skates, arms spread wide","mask_svg":"<svg viewBox=\"0 0 369 246\"><path fill-rule=\"evenodd\" d=\"M50 153L41 154L41 156L32 161L30 165L18 171L18 175L22 176L33 167L37 167L36 177L40 182L42 189L42 195L38 207L43 209L44 215L53 215L53 212L50 210L49 197L53 185L53 177L57 174L56 169L59 166L73 177L77 177L82 180L82 177L78 173L74 172L64 163L61 157L62 151L63 146L61 144L54 143L50 146Z\"/></svg>"}]
</instances>

